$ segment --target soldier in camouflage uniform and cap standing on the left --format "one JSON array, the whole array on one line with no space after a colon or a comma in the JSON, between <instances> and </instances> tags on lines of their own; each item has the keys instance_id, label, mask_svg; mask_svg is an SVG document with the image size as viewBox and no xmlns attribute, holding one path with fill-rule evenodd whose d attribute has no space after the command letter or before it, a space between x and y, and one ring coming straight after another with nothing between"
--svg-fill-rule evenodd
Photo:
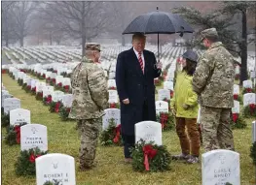
<instances>
[{"instance_id":1,"label":"soldier in camouflage uniform and cap standing on the left","mask_svg":"<svg viewBox=\"0 0 256 185\"><path fill-rule=\"evenodd\" d=\"M95 158L101 117L107 108L107 81L98 66L100 46L86 45L86 57L71 77L73 103L69 117L76 119L81 134L80 169L90 170Z\"/></svg>"}]
</instances>

